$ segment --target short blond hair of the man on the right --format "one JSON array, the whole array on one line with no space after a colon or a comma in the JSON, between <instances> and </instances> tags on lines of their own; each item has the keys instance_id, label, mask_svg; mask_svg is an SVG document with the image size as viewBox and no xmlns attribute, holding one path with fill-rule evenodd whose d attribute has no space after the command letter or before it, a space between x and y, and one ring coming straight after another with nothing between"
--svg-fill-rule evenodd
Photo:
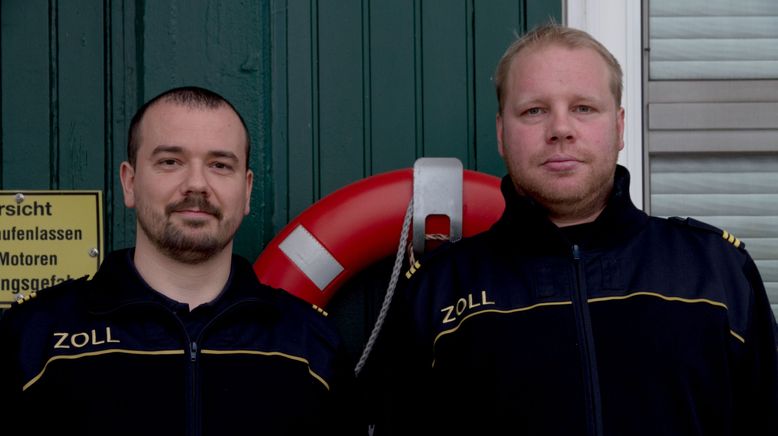
<instances>
[{"instance_id":1,"label":"short blond hair of the man on the right","mask_svg":"<svg viewBox=\"0 0 778 436\"><path fill-rule=\"evenodd\" d=\"M590 48L596 51L610 71L610 88L613 99L616 101L616 107L621 106L622 76L619 61L608 51L605 46L594 39L588 33L559 25L557 23L548 23L536 27L526 35L517 39L505 50L505 53L497 63L497 71L494 73L494 84L497 89L498 113L503 110L503 97L505 96L506 80L510 73L511 63L522 51L532 48L544 47L549 45L560 45L562 47L577 49Z\"/></svg>"}]
</instances>

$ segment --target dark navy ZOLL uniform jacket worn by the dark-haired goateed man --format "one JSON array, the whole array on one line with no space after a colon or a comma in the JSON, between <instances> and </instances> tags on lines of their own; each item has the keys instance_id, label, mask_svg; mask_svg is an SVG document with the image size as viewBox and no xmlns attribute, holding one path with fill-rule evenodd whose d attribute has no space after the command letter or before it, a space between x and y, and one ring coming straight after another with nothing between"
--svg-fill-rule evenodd
<instances>
[{"instance_id":1,"label":"dark navy ZOLL uniform jacket worn by the dark-haired goateed man","mask_svg":"<svg viewBox=\"0 0 778 436\"><path fill-rule=\"evenodd\" d=\"M222 295L192 311L208 312L201 325L185 326L164 300L119 251L93 280L8 309L0 434L340 434L348 424L335 331L259 284L246 260L235 256Z\"/></svg>"}]
</instances>

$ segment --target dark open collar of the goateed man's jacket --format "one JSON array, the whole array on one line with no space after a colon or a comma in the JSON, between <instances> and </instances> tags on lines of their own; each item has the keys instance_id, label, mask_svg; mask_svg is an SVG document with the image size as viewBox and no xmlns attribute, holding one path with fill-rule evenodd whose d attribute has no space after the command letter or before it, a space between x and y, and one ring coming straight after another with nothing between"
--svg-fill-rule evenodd
<instances>
[{"instance_id":1,"label":"dark open collar of the goateed man's jacket","mask_svg":"<svg viewBox=\"0 0 778 436\"><path fill-rule=\"evenodd\" d=\"M132 248L118 250L103 260L100 269L89 282L87 299L90 311L106 313L128 305L158 304L166 299L152 289L135 269L133 253ZM248 261L233 255L230 277L214 303L223 308L241 301L265 308L275 306L272 295L259 283Z\"/></svg>"}]
</instances>

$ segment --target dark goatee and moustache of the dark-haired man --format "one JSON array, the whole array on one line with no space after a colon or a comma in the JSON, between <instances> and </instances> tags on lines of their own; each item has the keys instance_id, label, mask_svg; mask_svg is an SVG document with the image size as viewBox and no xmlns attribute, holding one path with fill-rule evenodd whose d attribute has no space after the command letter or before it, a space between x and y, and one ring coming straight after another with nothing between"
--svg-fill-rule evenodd
<instances>
[{"instance_id":1,"label":"dark goatee and moustache of the dark-haired man","mask_svg":"<svg viewBox=\"0 0 778 436\"><path fill-rule=\"evenodd\" d=\"M197 231L208 223L202 220L184 220L182 224L176 224L170 219L174 212L189 208L197 208L215 217L218 229L209 233L192 232L191 230ZM152 244L171 259L187 264L202 263L221 252L238 230L237 226L223 222L221 210L200 194L190 195L167 205L164 215L145 204L139 205L137 212L138 224Z\"/></svg>"}]
</instances>

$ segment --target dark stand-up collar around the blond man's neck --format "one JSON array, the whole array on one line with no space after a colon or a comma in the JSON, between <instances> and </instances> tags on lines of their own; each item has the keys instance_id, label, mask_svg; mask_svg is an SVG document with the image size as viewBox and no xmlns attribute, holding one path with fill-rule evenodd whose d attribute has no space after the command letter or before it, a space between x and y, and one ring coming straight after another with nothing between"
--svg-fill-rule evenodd
<instances>
[{"instance_id":1,"label":"dark stand-up collar around the blond man's neck","mask_svg":"<svg viewBox=\"0 0 778 436\"><path fill-rule=\"evenodd\" d=\"M508 235L516 244L531 244L533 250L548 254L569 252L570 243L548 219L548 211L532 198L519 195L509 176L502 179L505 212L493 229ZM637 209L629 196L629 171L618 165L608 204L592 223L591 232L581 242L583 249L599 249L619 244L640 231L647 215Z\"/></svg>"}]
</instances>

